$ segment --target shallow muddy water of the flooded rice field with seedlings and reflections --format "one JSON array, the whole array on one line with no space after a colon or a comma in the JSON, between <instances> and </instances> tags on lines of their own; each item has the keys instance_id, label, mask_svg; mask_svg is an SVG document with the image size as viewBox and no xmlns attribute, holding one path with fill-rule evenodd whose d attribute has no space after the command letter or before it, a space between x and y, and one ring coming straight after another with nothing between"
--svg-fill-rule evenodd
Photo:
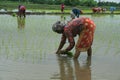
<instances>
[{"instance_id":1,"label":"shallow muddy water of the flooded rice field with seedlings and reflections","mask_svg":"<svg viewBox=\"0 0 120 80\"><path fill-rule=\"evenodd\" d=\"M61 35L51 25L60 15L0 15L0 80L120 80L120 15L83 16L96 24L93 56L74 61L54 54Z\"/></svg>"}]
</instances>

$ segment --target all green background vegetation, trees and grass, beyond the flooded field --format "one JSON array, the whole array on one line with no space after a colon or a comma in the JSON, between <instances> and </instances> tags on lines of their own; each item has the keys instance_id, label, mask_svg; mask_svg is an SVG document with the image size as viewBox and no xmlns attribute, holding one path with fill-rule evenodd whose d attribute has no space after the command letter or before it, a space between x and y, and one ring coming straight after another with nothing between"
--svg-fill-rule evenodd
<instances>
[{"instance_id":1,"label":"all green background vegetation, trees and grass, beyond the flooded field","mask_svg":"<svg viewBox=\"0 0 120 80\"><path fill-rule=\"evenodd\" d=\"M13 2L14 1L14 2ZM41 2L35 2L36 0L5 0L5 1L1 1L0 0L0 9L6 9L8 11L11 11L13 9L17 9L18 5L25 5L27 10L31 10L33 12L50 12L50 13L59 13L60 11L60 4L64 1L67 0L55 0L58 2L54 2L52 4L45 2L45 0L37 0L37 1L41 1ZM47 0L50 1L50 0ZM54 0L52 0L54 1ZM62 1L62 2L59 2ZM70 1L70 0L68 0ZM90 3L95 3L95 5L83 5L85 3L88 3L88 1L91 1ZM44 2L44 3L42 3ZM70 2L69 2L70 3ZM74 1L71 2L71 4L66 4L65 5L65 13L70 13L72 7L74 6L73 3L75 3ZM107 6L109 3L109 6ZM115 11L115 13L120 13L120 9L119 6L117 6L117 4L119 3L113 3L113 2L99 2L97 3L94 0L81 0L81 2L79 2L79 4L76 4L76 7L78 7L79 9L81 9L84 13L91 13L91 8L100 5L103 8L107 9L107 13L109 12L109 7L114 4L117 7L117 11Z\"/></svg>"}]
</instances>

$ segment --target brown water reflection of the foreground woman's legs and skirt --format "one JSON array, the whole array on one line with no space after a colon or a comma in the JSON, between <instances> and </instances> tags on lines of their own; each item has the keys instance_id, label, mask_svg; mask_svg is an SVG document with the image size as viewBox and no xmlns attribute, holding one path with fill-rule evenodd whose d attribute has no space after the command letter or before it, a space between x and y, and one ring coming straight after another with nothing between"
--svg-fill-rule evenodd
<instances>
[{"instance_id":1,"label":"brown water reflection of the foreground woman's legs and skirt","mask_svg":"<svg viewBox=\"0 0 120 80\"><path fill-rule=\"evenodd\" d=\"M76 80L91 80L91 57L87 58L86 64L80 66L78 60L74 60Z\"/></svg>"}]
</instances>

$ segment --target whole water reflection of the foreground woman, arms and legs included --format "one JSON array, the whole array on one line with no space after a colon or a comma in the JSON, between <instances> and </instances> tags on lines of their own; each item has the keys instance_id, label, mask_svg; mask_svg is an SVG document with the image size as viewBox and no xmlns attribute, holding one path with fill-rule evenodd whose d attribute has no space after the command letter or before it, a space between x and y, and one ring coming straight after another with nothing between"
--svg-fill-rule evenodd
<instances>
[{"instance_id":1,"label":"whole water reflection of the foreground woman, arms and legs included","mask_svg":"<svg viewBox=\"0 0 120 80\"><path fill-rule=\"evenodd\" d=\"M78 60L70 60L67 57L58 56L60 68L60 80L91 80L91 57L88 57L86 63L80 65ZM54 76L54 78L57 76Z\"/></svg>"}]
</instances>

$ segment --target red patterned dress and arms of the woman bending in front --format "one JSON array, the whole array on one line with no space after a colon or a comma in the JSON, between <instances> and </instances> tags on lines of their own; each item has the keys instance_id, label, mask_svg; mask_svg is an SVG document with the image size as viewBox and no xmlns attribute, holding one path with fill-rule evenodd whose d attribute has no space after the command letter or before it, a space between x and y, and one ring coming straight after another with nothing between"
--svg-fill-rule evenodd
<instances>
[{"instance_id":1,"label":"red patterned dress and arms of the woman bending in front","mask_svg":"<svg viewBox=\"0 0 120 80\"><path fill-rule=\"evenodd\" d=\"M66 39L68 39L70 44L65 50L70 51L75 45L74 37L78 34L76 50L87 51L92 45L95 28L94 22L89 18L73 19L64 28L59 49L63 47Z\"/></svg>"}]
</instances>

